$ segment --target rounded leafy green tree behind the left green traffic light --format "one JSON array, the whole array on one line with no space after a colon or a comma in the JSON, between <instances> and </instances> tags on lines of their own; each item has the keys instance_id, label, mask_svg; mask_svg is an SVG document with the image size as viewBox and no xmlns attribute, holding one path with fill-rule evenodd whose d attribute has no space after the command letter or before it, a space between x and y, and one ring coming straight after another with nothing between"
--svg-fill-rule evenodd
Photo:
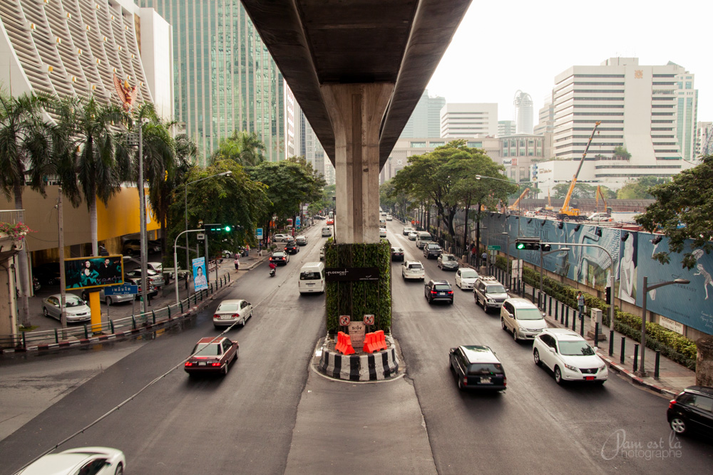
<instances>
[{"instance_id":1,"label":"rounded leafy green tree behind the left green traffic light","mask_svg":"<svg viewBox=\"0 0 713 475\"><path fill-rule=\"evenodd\" d=\"M227 171L232 174L206 179L188 187L189 229L196 229L198 221L226 224L233 228L229 233L209 236L210 256L217 256L223 249L235 251L237 246L245 243L255 245L255 228L270 207L267 187L250 179L245 169L233 160L218 160L205 169L191 167L183 180L193 182ZM184 192L182 184L174 189L168 208L170 243L184 230ZM183 253L179 256L185 259ZM185 265L188 266L188 263Z\"/></svg>"}]
</instances>

